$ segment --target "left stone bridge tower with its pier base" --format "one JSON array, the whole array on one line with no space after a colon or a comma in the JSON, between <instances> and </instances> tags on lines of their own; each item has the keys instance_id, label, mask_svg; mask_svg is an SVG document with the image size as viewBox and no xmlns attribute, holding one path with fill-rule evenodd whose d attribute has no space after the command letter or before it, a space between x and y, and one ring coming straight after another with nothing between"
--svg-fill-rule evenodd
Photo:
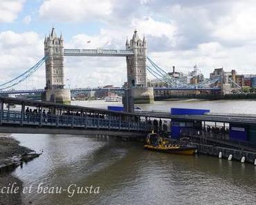
<instances>
[{"instance_id":1,"label":"left stone bridge tower with its pier base","mask_svg":"<svg viewBox=\"0 0 256 205\"><path fill-rule=\"evenodd\" d=\"M62 35L57 37L55 28L44 39L44 55L46 63L46 87L44 101L61 104L71 102L71 92L64 89L64 40Z\"/></svg>"}]
</instances>

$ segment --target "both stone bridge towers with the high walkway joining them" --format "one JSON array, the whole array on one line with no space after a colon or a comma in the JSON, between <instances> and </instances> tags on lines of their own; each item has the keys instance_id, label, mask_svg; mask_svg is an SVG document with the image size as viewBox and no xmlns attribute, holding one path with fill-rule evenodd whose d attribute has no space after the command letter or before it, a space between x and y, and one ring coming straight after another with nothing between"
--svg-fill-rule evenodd
<instances>
[{"instance_id":1,"label":"both stone bridge towers with the high walkway joining them","mask_svg":"<svg viewBox=\"0 0 256 205\"><path fill-rule=\"evenodd\" d=\"M51 30L48 37L44 39L44 55L46 58L46 87L44 101L69 103L71 101L71 90L64 88L64 56L107 56L126 57L127 61L127 99L128 104L135 102L150 103L154 101L153 88L147 87L147 43L138 37L137 31L130 41L125 44L125 50L104 49L64 49L62 35L57 37L55 28ZM131 100L132 99L132 100ZM133 110L132 106L128 106Z\"/></svg>"}]
</instances>

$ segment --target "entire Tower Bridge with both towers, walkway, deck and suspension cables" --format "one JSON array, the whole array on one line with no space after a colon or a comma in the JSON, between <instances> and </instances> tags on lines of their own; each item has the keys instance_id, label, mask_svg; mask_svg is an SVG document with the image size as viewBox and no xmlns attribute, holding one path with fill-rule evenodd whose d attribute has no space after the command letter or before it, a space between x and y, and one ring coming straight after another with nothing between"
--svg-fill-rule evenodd
<instances>
[{"instance_id":1,"label":"entire Tower Bridge with both towers, walkway, deck and suspension cables","mask_svg":"<svg viewBox=\"0 0 256 205\"><path fill-rule=\"evenodd\" d=\"M171 77L160 68L152 59L147 57L147 41L145 37L141 40L135 30L133 37L126 41L125 49L107 50L107 49L70 49L64 48L64 39L62 35L58 37L53 28L44 39L44 57L40 59L35 66L26 70L18 77L0 84L0 94L22 94L22 93L43 93L44 101L57 103L69 103L71 101L71 92L84 92L90 90L103 90L104 88L64 88L64 57L125 57L127 62L127 88L117 88L118 91L124 90L125 106L127 110L133 110L133 101L136 103L150 103L154 101L154 91L156 95L167 90L202 90L221 91L224 95L226 91L232 89L241 89L228 76L217 76L205 79L198 84L187 84L175 77ZM149 65L146 64L146 61ZM32 90L8 90L33 75L42 64L46 64L46 86L44 89ZM150 72L158 81L162 81L165 87L152 88L147 84L147 71ZM232 85L232 86L231 86ZM116 88L115 88L116 89ZM111 90L111 88L107 88ZM129 106L130 105L130 106Z\"/></svg>"}]
</instances>

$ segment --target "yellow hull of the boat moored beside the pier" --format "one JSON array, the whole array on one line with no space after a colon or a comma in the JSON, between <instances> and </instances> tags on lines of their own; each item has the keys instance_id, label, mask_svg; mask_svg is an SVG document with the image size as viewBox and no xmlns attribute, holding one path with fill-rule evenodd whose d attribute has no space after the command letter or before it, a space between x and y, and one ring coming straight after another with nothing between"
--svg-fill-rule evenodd
<instances>
[{"instance_id":1,"label":"yellow hull of the boat moored beside the pier","mask_svg":"<svg viewBox=\"0 0 256 205\"><path fill-rule=\"evenodd\" d=\"M179 155L194 155L196 153L196 148L194 147L183 147L183 148L159 148L154 146L144 146L147 150L154 150L161 153L172 153Z\"/></svg>"}]
</instances>

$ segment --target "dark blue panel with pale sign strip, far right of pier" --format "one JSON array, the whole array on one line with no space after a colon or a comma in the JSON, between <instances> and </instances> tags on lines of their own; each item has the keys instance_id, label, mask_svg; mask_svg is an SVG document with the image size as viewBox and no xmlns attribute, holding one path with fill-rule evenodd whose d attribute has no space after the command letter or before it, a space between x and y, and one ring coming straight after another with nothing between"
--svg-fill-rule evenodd
<instances>
[{"instance_id":1,"label":"dark blue panel with pale sign strip, far right of pier","mask_svg":"<svg viewBox=\"0 0 256 205\"><path fill-rule=\"evenodd\" d=\"M241 124L230 124L229 128L229 138L239 141L248 140L248 128Z\"/></svg>"}]
</instances>

